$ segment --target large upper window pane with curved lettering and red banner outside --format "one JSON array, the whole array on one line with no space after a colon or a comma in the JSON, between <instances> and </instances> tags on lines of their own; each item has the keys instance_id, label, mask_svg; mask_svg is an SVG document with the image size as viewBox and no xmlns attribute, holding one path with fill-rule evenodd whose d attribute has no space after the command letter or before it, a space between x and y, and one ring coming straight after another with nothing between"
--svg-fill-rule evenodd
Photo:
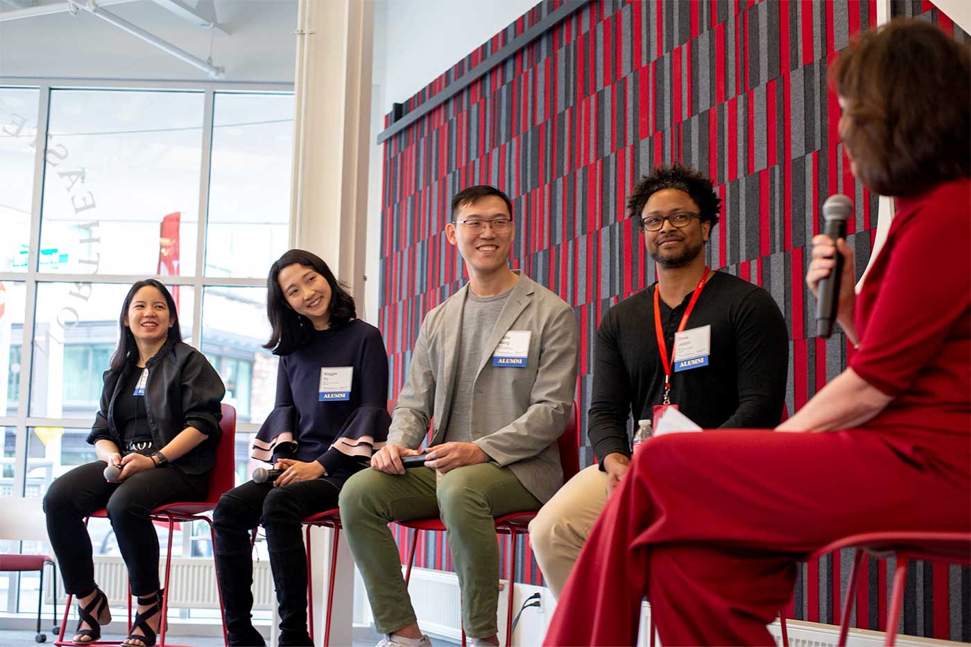
<instances>
[{"instance_id":1,"label":"large upper window pane with curved lettering and red banner outside","mask_svg":"<svg viewBox=\"0 0 971 647\"><path fill-rule=\"evenodd\" d=\"M195 273L203 98L50 92L40 271Z\"/></svg>"}]
</instances>

